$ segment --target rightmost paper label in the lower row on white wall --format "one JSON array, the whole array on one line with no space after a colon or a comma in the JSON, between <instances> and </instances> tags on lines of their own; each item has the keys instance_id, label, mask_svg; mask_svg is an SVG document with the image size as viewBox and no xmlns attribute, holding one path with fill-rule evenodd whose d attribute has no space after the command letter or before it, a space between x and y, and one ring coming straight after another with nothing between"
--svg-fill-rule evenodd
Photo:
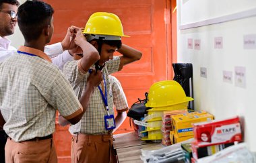
<instances>
[{"instance_id":1,"label":"rightmost paper label in the lower row on white wall","mask_svg":"<svg viewBox=\"0 0 256 163\"><path fill-rule=\"evenodd\" d=\"M234 67L234 85L236 87L246 87L246 75L245 67L236 66Z\"/></svg>"}]
</instances>

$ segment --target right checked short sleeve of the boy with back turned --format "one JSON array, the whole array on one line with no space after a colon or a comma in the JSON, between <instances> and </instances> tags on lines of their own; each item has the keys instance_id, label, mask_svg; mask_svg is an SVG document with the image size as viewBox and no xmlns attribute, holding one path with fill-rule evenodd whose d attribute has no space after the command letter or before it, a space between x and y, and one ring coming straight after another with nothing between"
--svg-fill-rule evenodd
<instances>
[{"instance_id":1,"label":"right checked short sleeve of the boy with back turned","mask_svg":"<svg viewBox=\"0 0 256 163\"><path fill-rule=\"evenodd\" d=\"M62 73L57 73L50 95L49 103L57 108L65 119L72 119L82 113L82 105Z\"/></svg>"}]
</instances>

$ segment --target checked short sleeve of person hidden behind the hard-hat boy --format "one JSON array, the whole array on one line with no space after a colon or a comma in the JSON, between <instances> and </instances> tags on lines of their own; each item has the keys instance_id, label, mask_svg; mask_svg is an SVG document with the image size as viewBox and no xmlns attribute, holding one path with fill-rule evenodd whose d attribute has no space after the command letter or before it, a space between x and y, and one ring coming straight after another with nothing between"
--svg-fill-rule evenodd
<instances>
[{"instance_id":1,"label":"checked short sleeve of person hidden behind the hard-hat boy","mask_svg":"<svg viewBox=\"0 0 256 163\"><path fill-rule=\"evenodd\" d=\"M128 110L128 103L125 97L125 92L121 86L121 83L115 76L109 75L110 85L112 85L113 101L117 109L117 112L123 112Z\"/></svg>"}]
</instances>

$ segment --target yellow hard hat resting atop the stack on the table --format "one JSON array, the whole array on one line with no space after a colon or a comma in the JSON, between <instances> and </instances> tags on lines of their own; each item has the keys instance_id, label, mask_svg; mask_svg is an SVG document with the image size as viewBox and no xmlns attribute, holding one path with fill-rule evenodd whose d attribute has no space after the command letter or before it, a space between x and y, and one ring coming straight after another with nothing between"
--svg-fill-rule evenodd
<instances>
[{"instance_id":1,"label":"yellow hard hat resting atop the stack on the table","mask_svg":"<svg viewBox=\"0 0 256 163\"><path fill-rule=\"evenodd\" d=\"M166 107L192 100L193 98L186 97L185 91L179 83L174 80L164 80L154 83L150 87L146 107Z\"/></svg>"}]
</instances>

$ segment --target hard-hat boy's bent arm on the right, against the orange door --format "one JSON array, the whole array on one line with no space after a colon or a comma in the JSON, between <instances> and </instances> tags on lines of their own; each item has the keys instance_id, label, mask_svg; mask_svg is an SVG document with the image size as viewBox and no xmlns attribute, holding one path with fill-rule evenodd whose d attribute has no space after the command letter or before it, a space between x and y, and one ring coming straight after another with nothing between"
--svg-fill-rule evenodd
<instances>
[{"instance_id":1,"label":"hard-hat boy's bent arm on the right, against the orange door","mask_svg":"<svg viewBox=\"0 0 256 163\"><path fill-rule=\"evenodd\" d=\"M130 46L127 46L125 44L122 44L122 47L117 50L117 52L123 54L123 56L121 56L120 58L119 70L122 70L123 66L125 66L126 64L129 64L136 60L140 60L142 56L142 53L139 52L139 50L131 48Z\"/></svg>"}]
</instances>

